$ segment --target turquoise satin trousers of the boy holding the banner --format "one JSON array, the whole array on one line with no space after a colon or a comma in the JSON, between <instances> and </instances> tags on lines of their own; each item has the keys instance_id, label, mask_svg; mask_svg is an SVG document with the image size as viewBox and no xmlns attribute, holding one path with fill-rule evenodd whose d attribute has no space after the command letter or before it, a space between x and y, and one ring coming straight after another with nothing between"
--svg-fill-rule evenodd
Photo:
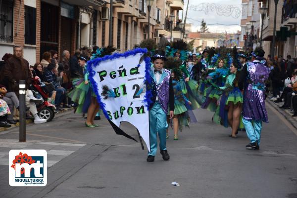
<instances>
[{"instance_id":1,"label":"turquoise satin trousers of the boy holding the banner","mask_svg":"<svg viewBox=\"0 0 297 198\"><path fill-rule=\"evenodd\" d=\"M149 156L155 156L157 152L157 132L160 139L160 150L166 150L166 129L167 115L161 108L158 101L154 103L151 110L149 110L149 142L150 153Z\"/></svg>"}]
</instances>

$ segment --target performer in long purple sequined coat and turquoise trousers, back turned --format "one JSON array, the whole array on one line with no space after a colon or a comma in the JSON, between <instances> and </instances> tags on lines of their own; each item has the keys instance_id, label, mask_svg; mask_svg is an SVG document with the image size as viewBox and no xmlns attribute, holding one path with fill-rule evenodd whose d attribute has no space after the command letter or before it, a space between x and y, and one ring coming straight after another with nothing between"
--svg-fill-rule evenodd
<instances>
[{"instance_id":1,"label":"performer in long purple sequined coat and turquoise trousers, back turned","mask_svg":"<svg viewBox=\"0 0 297 198\"><path fill-rule=\"evenodd\" d=\"M260 149L262 121L268 122L265 108L265 81L270 70L261 62L264 60L264 54L261 48L256 48L251 53L251 62L244 66L239 80L239 87L244 90L243 123L250 139L246 148L253 150Z\"/></svg>"}]
</instances>

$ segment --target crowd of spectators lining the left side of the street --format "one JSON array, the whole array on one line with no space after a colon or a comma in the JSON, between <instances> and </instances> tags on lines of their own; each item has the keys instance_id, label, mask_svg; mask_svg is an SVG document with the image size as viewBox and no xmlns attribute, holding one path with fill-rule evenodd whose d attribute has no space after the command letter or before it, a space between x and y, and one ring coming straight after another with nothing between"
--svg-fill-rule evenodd
<instances>
[{"instance_id":1,"label":"crowd of spectators lining the left side of the street","mask_svg":"<svg viewBox=\"0 0 297 198\"><path fill-rule=\"evenodd\" d=\"M72 57L68 50L64 50L60 60L57 51L49 50L33 66L23 58L21 46L14 46L13 54L6 53L0 61L0 127L10 127L19 121L19 80L26 81L26 118L34 119L36 124L47 120L39 116L37 107L44 99L32 89L35 77L44 84L52 84L54 90L49 93L49 98L56 112L74 106L67 93L72 88L71 79L83 75L83 68L78 64L81 54L90 57L91 50L88 47L77 49Z\"/></svg>"}]
</instances>

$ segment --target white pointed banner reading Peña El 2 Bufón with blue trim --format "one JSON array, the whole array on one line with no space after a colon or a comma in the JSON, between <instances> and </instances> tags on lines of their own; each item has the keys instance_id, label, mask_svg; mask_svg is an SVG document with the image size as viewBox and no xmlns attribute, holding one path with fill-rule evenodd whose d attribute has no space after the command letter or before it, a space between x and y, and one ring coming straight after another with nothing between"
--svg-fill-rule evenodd
<instances>
[{"instance_id":1,"label":"white pointed banner reading Pe\u00f1a El 2 Buf\u00f3n with blue trim","mask_svg":"<svg viewBox=\"0 0 297 198\"><path fill-rule=\"evenodd\" d=\"M105 117L116 134L135 140L122 131L120 123L133 124L149 147L148 108L151 92L150 58L143 61L147 49L137 48L88 61L93 90ZM136 141L136 140L135 140Z\"/></svg>"}]
</instances>

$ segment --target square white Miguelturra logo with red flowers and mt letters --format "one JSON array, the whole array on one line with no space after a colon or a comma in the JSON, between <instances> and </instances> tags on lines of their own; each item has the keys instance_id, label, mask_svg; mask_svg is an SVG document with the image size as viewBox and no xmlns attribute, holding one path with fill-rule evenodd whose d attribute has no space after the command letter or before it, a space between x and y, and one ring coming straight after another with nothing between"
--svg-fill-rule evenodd
<instances>
[{"instance_id":1,"label":"square white Miguelturra logo with red flowers and mt letters","mask_svg":"<svg viewBox=\"0 0 297 198\"><path fill-rule=\"evenodd\" d=\"M46 150L10 150L10 186L46 186L48 156Z\"/></svg>"}]
</instances>

